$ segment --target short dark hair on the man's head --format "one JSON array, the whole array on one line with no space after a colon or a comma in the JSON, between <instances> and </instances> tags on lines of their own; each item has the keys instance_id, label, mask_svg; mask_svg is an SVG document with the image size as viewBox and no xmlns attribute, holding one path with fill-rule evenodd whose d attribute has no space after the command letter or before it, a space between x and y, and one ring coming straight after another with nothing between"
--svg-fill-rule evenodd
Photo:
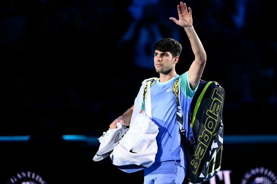
<instances>
[{"instance_id":1,"label":"short dark hair on the man's head","mask_svg":"<svg viewBox=\"0 0 277 184\"><path fill-rule=\"evenodd\" d=\"M158 40L154 45L154 51L170 52L172 57L180 56L182 51L181 44L172 38L163 38Z\"/></svg>"}]
</instances>

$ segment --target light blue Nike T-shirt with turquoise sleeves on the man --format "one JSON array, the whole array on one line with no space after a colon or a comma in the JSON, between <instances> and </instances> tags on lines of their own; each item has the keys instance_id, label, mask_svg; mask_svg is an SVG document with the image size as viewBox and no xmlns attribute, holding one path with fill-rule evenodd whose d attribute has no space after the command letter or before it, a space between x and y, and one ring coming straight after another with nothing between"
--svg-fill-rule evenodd
<instances>
[{"instance_id":1,"label":"light blue Nike T-shirt with turquoise sleeves on the man","mask_svg":"<svg viewBox=\"0 0 277 184\"><path fill-rule=\"evenodd\" d=\"M191 100L198 85L191 90L187 73L180 76L180 101L184 113L184 123L187 132L188 112ZM181 160L181 166L185 168L183 146L180 139L180 129L176 120L176 102L172 91L173 84L179 75L175 75L167 82L159 82L157 79L151 86L151 110L152 120L159 126L159 133L156 137L158 152L155 163L167 160ZM142 108L144 109L144 103Z\"/></svg>"}]
</instances>

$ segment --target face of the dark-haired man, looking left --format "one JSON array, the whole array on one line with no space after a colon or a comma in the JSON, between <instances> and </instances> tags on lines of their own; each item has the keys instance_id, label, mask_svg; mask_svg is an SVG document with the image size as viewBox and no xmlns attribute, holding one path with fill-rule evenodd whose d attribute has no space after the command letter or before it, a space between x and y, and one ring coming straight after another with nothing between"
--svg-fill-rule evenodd
<instances>
[{"instance_id":1,"label":"face of the dark-haired man, looking left","mask_svg":"<svg viewBox=\"0 0 277 184\"><path fill-rule=\"evenodd\" d=\"M172 66L173 63L175 63L176 57L173 58L170 52L160 52L158 50L155 50L154 65L156 72L168 74L172 70Z\"/></svg>"}]
</instances>

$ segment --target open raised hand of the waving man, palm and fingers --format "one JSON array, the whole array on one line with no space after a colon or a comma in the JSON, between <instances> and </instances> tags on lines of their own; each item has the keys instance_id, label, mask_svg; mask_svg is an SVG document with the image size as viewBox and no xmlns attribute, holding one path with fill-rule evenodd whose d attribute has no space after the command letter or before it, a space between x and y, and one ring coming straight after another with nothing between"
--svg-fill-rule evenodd
<instances>
[{"instance_id":1,"label":"open raised hand of the waving man, palm and fingers","mask_svg":"<svg viewBox=\"0 0 277 184\"><path fill-rule=\"evenodd\" d=\"M184 28L192 27L191 8L189 7L189 11L187 11L186 3L180 2L180 5L177 6L177 9L179 14L179 20L175 19L174 17L170 17L169 19Z\"/></svg>"}]
</instances>

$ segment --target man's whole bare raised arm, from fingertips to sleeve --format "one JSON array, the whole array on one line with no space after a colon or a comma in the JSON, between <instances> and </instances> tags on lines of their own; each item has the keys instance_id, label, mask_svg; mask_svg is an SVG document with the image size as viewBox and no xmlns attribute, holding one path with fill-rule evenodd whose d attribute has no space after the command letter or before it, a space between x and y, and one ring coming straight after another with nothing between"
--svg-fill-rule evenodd
<instances>
[{"instance_id":1,"label":"man's whole bare raised arm, from fingertips to sleeve","mask_svg":"<svg viewBox=\"0 0 277 184\"><path fill-rule=\"evenodd\" d=\"M199 80L201 79L206 64L206 52L192 26L191 8L189 7L189 11L187 11L186 3L180 2L180 5L177 6L177 9L179 20L176 20L174 17L170 17L169 19L185 29L187 36L191 42L191 48L195 55L195 60L192 62L191 67L188 71L188 80L190 82L191 89L194 90Z\"/></svg>"}]
</instances>

